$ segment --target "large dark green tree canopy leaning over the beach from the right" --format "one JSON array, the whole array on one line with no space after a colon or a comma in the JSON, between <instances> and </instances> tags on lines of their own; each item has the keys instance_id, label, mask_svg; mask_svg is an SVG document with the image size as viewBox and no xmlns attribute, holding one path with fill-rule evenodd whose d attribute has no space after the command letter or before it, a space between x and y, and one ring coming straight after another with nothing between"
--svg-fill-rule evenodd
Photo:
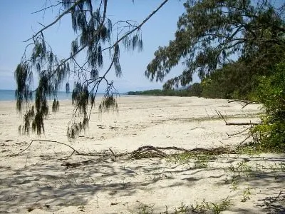
<instances>
[{"instance_id":1,"label":"large dark green tree canopy leaning over the beach from the right","mask_svg":"<svg viewBox=\"0 0 285 214\"><path fill-rule=\"evenodd\" d=\"M257 54L274 58L278 53L270 53L272 46L285 48L285 4L274 7L266 0L188 0L185 9L175 40L155 51L145 71L151 81L162 81L184 59L185 71L167 81L166 89L186 86L193 73L203 79L231 63L232 58L254 58Z\"/></svg>"}]
</instances>

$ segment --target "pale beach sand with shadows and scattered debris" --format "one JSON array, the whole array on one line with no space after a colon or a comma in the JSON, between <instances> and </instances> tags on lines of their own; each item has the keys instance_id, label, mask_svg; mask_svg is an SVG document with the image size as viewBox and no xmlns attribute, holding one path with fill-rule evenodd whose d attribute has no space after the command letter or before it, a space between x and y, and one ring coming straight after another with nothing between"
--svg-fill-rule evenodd
<instances>
[{"instance_id":1,"label":"pale beach sand with shadows and scattered debris","mask_svg":"<svg viewBox=\"0 0 285 214\"><path fill-rule=\"evenodd\" d=\"M20 136L15 102L0 102L0 213L217 213L225 204L222 213L285 212L284 154L114 160L34 142L11 156L31 140L59 141L82 153L146 145L230 148L247 133L228 135L247 126L226 126L216 110L231 122L257 122L261 112L259 105L195 97L129 96L118 104L118 113L93 111L88 130L69 142L70 101L48 117L41 137Z\"/></svg>"}]
</instances>

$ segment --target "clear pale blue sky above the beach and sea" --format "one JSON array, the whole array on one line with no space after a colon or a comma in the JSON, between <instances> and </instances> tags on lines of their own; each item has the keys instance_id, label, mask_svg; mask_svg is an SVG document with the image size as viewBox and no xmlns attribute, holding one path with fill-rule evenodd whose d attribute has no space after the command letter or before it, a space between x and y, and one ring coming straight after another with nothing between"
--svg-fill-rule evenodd
<instances>
[{"instance_id":1,"label":"clear pale blue sky above the beach and sea","mask_svg":"<svg viewBox=\"0 0 285 214\"><path fill-rule=\"evenodd\" d=\"M56 2L48 0L49 2ZM140 23L162 0L109 0L107 16L112 20L135 20ZM21 61L26 44L41 24L47 25L58 15L57 9L49 9L45 13L33 14L43 9L46 0L14 0L1 2L0 8L0 89L15 89L14 70ZM158 46L165 46L174 39L178 17L185 11L183 1L170 0L160 11L142 26L142 52L121 51L120 63L123 76L116 78L112 72L107 77L114 81L120 93L162 88L168 78L179 75L183 66L180 64L170 71L163 82L150 82L145 78L145 69L154 57ZM71 41L75 34L71 29L71 18L66 16L60 23L45 31L45 38L58 56L69 56ZM108 56L106 56L108 57ZM195 77L194 81L198 81ZM36 81L35 81L36 82ZM103 88L100 88L103 91Z\"/></svg>"}]
</instances>

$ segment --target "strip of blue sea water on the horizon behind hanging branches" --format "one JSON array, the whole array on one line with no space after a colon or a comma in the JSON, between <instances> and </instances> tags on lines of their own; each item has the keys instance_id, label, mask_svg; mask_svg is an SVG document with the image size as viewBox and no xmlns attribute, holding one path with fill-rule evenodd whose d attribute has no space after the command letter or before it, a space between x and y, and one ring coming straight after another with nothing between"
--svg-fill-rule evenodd
<instances>
[{"instance_id":1,"label":"strip of blue sea water on the horizon behind hanging branches","mask_svg":"<svg viewBox=\"0 0 285 214\"><path fill-rule=\"evenodd\" d=\"M98 93L97 97L103 97L104 93ZM58 92L57 98L59 101L71 100L71 93ZM53 100L54 97L48 98ZM14 90L0 90L0 101L16 101Z\"/></svg>"}]
</instances>

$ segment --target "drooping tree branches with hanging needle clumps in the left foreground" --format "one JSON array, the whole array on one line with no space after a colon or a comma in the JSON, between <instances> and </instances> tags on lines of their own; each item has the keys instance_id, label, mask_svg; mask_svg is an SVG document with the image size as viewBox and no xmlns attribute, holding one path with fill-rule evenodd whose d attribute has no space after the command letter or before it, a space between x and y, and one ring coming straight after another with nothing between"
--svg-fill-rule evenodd
<instances>
[{"instance_id":1,"label":"drooping tree branches with hanging needle clumps in the left foreground","mask_svg":"<svg viewBox=\"0 0 285 214\"><path fill-rule=\"evenodd\" d=\"M29 133L44 132L44 119L48 116L48 97L54 97L52 111L58 111L59 103L56 98L58 90L66 85L66 91L70 90L68 76L72 75L74 88L72 91L72 103L75 106L71 125L68 127L69 138L78 136L88 126L90 111L95 102L98 86L105 81L107 88L105 96L100 103L101 112L110 108L117 108L114 94L116 93L113 81L108 81L107 73L112 69L115 75L122 75L120 66L120 49L142 51L141 27L147 22L168 0L162 1L149 16L138 24L135 21L118 21L113 23L107 18L108 0L62 0L57 4L47 6L41 11L51 8L59 8L59 15L47 26L36 32L27 43L21 62L16 68L15 78L16 108L19 112L25 109L24 125L19 131ZM48 1L46 1L48 2ZM51 1L50 1L51 2ZM38 11L39 12L39 11ZM76 34L71 42L71 54L66 58L59 58L48 45L44 33L54 24L71 15L73 31ZM113 41L115 39L115 41ZM31 55L28 51L31 50ZM77 56L86 52L86 61L78 61ZM109 52L110 64L105 71L103 69L103 52ZM32 88L33 76L39 77L38 86ZM32 97L35 96L34 103Z\"/></svg>"}]
</instances>

